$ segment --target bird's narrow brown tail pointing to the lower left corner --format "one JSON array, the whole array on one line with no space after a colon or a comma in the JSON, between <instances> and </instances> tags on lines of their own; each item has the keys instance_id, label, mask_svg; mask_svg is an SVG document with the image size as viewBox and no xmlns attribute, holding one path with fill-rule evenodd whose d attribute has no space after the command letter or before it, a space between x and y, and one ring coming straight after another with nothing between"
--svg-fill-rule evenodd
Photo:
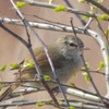
<instances>
[{"instance_id":1,"label":"bird's narrow brown tail pointing to the lower left corner","mask_svg":"<svg viewBox=\"0 0 109 109\"><path fill-rule=\"evenodd\" d=\"M11 85L8 89L3 92L3 94L0 95L0 101L2 101L7 96L9 96L14 89L16 89L21 83L16 83L14 85Z\"/></svg>"}]
</instances>

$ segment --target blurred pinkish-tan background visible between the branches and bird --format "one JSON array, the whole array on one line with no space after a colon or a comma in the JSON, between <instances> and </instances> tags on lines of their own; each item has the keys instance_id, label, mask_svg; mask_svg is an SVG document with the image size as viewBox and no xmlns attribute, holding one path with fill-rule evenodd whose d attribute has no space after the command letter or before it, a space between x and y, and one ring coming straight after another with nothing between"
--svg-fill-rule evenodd
<instances>
[{"instance_id":1,"label":"blurred pinkish-tan background visible between the branches and bird","mask_svg":"<svg viewBox=\"0 0 109 109\"><path fill-rule=\"evenodd\" d=\"M38 1L48 2L48 0L38 0ZM69 1L75 9L84 10L84 11L89 10L86 3L78 3L77 0L69 0ZM9 0L0 0L0 2L2 2L0 3L0 11L3 12L3 14L0 13L1 17L7 16L10 19L19 19L15 11L12 10L12 4L10 3ZM66 3L64 2L64 0L55 0L55 3L63 4L66 7ZM107 2L104 2L104 4L107 5ZM21 11L24 13L33 14L33 15L36 14L37 16L40 16L43 19L51 20L53 22L64 23L68 25L70 25L70 17L73 17L74 25L77 27L83 27L81 22L77 20L77 17L73 13L55 12L51 9L31 7L31 5L25 5L24 8L21 9ZM100 11L98 10L98 12ZM40 20L36 17L31 17L31 16L25 16L25 17L31 21L40 22ZM101 22L102 28L107 27L106 23L107 22ZM9 25L9 24L5 24L5 26L12 29L13 32L15 32L17 35L20 35L24 39L27 39L24 27ZM90 24L90 28L93 31L98 31L95 22ZM41 37L45 44L51 44L58 37L73 34L73 33L44 31L44 29L38 29L38 28L37 29L35 28L35 31L38 33L38 35ZM90 50L84 52L84 56L85 56L86 61L89 62L92 69L96 70L98 68L100 60L102 60L98 45L95 43L93 38L88 36L85 36L85 35L77 35L77 36L84 41L85 46L90 48ZM32 38L33 48L41 46L40 43L36 39L36 37L32 33L31 33L31 38ZM22 45L19 40L16 40L14 37L9 35L2 28L0 28L0 66L3 64L8 64L7 71L0 73L0 78L2 81L12 81L14 78L13 72L9 71L10 63L20 63L25 58L25 55L27 55L27 52L28 51L24 47L24 45ZM100 74L95 74L95 73L92 73L92 76L100 94L105 95L106 94L105 76ZM95 92L92 84L90 83L87 84L85 82L84 76L82 75L82 72L77 73L77 77L74 77L72 75L68 84L71 82L75 83L76 86L83 89ZM34 93L34 94L25 96L25 98L38 99L38 100L43 98L48 98L48 97L49 95L47 92L41 92L41 93L36 93L36 94ZM61 95L58 95L58 97L61 97ZM26 106L26 107L11 107L11 109L12 108L36 109L38 107L34 105L34 106ZM40 109L51 109L51 107L45 106Z\"/></svg>"}]
</instances>

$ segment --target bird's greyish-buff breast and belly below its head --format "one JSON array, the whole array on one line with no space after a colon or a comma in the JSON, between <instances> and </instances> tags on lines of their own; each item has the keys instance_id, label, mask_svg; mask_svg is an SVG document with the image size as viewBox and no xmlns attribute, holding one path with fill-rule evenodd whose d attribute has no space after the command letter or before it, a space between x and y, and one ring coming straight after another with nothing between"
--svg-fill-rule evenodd
<instances>
[{"instance_id":1,"label":"bird's greyish-buff breast and belly below its head","mask_svg":"<svg viewBox=\"0 0 109 109\"><path fill-rule=\"evenodd\" d=\"M75 56L74 58L68 60L64 59L62 61L62 68L56 69L56 73L61 82L68 82L70 77L73 75L73 73L76 73L80 71L80 69L83 65L83 61L81 59L81 56Z\"/></svg>"}]
</instances>

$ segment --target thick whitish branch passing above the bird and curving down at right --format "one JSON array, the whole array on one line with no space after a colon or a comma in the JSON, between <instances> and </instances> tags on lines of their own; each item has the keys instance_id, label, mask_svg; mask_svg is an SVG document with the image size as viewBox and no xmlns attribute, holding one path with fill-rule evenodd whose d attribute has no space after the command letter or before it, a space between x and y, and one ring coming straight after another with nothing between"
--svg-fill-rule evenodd
<instances>
[{"instance_id":1,"label":"thick whitish branch passing above the bird and curving down at right","mask_svg":"<svg viewBox=\"0 0 109 109\"><path fill-rule=\"evenodd\" d=\"M23 23L21 20L10 20L10 19L2 19L0 17L0 21L7 24L17 24L23 26ZM47 29L47 31L56 31L56 32L66 32L66 33L73 33L71 26L66 25L52 25L52 24L46 24L46 23L37 23L37 22L28 22L32 27L39 28L39 29ZM74 27L74 31L77 34L85 34L87 36L93 37L97 44L100 46L101 55L105 61L105 75L106 75L106 85L107 85L107 93L109 93L109 52L108 52L108 44L105 40L104 37L101 37L98 33L92 31L92 29L86 29L83 33L82 28Z\"/></svg>"}]
</instances>

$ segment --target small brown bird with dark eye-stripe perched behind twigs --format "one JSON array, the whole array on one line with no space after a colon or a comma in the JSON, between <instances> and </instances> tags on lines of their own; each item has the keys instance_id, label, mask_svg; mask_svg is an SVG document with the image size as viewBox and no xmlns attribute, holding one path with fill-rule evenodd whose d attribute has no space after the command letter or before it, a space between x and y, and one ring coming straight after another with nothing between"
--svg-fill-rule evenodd
<instances>
[{"instance_id":1,"label":"small brown bird with dark eye-stripe perched behind twigs","mask_svg":"<svg viewBox=\"0 0 109 109\"><path fill-rule=\"evenodd\" d=\"M83 52L84 44L77 37L77 43L81 51ZM64 37L59 37L53 44L48 45L48 50L50 58L52 60L53 66L56 69L56 73L60 82L66 83L68 80L72 76L73 73L77 72L83 65L83 61L80 56L80 50L77 47L76 39L73 35L68 35ZM44 48L39 47L34 49L35 57L38 61L38 64L41 69L44 75L49 75L52 80L55 80L53 74L51 72L51 68L45 55ZM32 61L31 55L28 55L23 64ZM35 68L25 68L21 71L21 74L17 74L15 81L20 80L34 80L36 75ZM19 87L23 83L16 83L10 86L5 92L0 96L0 101L3 100L8 95L10 95L16 87ZM40 82L29 83L34 87L44 88ZM53 83L48 83L50 88L55 88L57 85Z\"/></svg>"}]
</instances>

